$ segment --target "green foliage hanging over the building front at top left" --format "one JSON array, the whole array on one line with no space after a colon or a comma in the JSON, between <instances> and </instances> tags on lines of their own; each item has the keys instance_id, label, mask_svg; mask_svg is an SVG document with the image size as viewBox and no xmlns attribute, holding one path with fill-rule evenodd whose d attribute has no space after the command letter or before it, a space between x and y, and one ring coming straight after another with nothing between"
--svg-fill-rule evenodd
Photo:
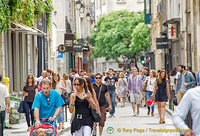
<instances>
[{"instance_id":1,"label":"green foliage hanging over the building front at top left","mask_svg":"<svg viewBox=\"0 0 200 136\"><path fill-rule=\"evenodd\" d=\"M1 0L0 32L7 28L11 20L32 27L34 18L41 14L46 14L50 28L53 10L52 0L35 0L35 3L33 0Z\"/></svg>"}]
</instances>

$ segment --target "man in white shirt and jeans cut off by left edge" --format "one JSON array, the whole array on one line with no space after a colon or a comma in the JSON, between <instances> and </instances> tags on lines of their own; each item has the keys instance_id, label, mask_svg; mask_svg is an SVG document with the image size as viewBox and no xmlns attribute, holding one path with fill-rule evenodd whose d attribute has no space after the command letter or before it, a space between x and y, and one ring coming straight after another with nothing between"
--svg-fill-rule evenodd
<instances>
[{"instance_id":1,"label":"man in white shirt and jeans cut off by left edge","mask_svg":"<svg viewBox=\"0 0 200 136\"><path fill-rule=\"evenodd\" d=\"M0 75L0 82L2 80L2 76ZM7 107L6 102L7 101ZM3 136L3 128L5 121L5 110L7 109L7 113L10 111L10 97L8 94L8 87L0 83L0 118L1 118L1 136Z\"/></svg>"}]
</instances>

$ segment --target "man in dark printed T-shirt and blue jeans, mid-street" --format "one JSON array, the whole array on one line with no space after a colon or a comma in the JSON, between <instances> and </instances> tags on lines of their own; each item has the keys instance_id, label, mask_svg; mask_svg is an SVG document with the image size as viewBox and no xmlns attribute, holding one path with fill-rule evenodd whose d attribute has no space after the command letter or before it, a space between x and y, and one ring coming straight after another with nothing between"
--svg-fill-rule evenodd
<instances>
[{"instance_id":1,"label":"man in dark printed T-shirt and blue jeans, mid-street","mask_svg":"<svg viewBox=\"0 0 200 136\"><path fill-rule=\"evenodd\" d=\"M110 117L114 117L115 113L115 84L117 83L117 77L113 76L114 70L109 68L109 76L107 76L104 81L107 84L108 92L110 94L111 103L112 103L112 110L110 111Z\"/></svg>"}]
</instances>

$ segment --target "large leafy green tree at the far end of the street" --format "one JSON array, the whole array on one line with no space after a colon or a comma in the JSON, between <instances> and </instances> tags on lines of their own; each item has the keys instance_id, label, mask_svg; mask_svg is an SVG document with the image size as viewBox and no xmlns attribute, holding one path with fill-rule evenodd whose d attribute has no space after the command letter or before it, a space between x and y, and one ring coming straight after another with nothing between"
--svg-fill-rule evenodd
<instances>
[{"instance_id":1,"label":"large leafy green tree at the far end of the street","mask_svg":"<svg viewBox=\"0 0 200 136\"><path fill-rule=\"evenodd\" d=\"M107 60L117 60L120 56L125 56L127 59L135 58L136 54L146 46L137 43L137 37L133 33L149 34L149 31L144 30L144 33L138 31L141 29L141 22L144 22L144 14L137 15L135 12L126 10L114 11L101 17L97 22L97 31L92 31L92 43L95 45L93 57L105 57ZM144 37L147 40L146 33L140 38ZM137 50L133 50L135 46Z\"/></svg>"}]
</instances>

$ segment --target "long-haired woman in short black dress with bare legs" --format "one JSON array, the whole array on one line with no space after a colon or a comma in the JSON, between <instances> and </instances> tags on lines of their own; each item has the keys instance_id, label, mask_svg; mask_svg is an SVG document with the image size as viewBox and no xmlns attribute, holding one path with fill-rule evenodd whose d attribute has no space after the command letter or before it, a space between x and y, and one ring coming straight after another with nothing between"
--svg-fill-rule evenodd
<instances>
[{"instance_id":1,"label":"long-haired woman in short black dress with bare legs","mask_svg":"<svg viewBox=\"0 0 200 136\"><path fill-rule=\"evenodd\" d=\"M156 91L157 90L157 91ZM155 101L158 105L158 113L160 116L160 124L165 123L165 105L168 99L170 100L169 83L166 71L162 70L159 73L157 83L152 94L155 95Z\"/></svg>"}]
</instances>

